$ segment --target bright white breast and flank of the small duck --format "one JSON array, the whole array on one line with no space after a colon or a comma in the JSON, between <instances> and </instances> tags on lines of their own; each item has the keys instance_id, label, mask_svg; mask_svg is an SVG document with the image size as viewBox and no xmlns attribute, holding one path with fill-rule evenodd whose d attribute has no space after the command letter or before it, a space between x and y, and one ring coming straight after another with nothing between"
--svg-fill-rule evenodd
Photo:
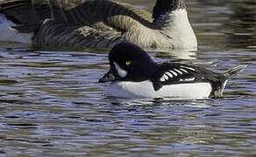
<instances>
[{"instance_id":1,"label":"bright white breast and flank of the small duck","mask_svg":"<svg viewBox=\"0 0 256 157\"><path fill-rule=\"evenodd\" d=\"M174 98L205 99L209 98L212 88L210 83L164 85L154 91L150 81L113 82L107 88L107 95L122 98Z\"/></svg>"}]
</instances>

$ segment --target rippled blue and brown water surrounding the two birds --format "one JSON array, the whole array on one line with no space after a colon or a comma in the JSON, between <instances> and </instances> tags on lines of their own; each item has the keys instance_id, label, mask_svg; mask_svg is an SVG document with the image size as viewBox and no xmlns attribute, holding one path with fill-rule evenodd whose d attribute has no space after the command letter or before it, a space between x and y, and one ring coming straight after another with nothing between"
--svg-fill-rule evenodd
<instances>
[{"instance_id":1,"label":"rippled blue and brown water surrounding the two birds","mask_svg":"<svg viewBox=\"0 0 256 157\"><path fill-rule=\"evenodd\" d=\"M133 3L151 10L154 1ZM216 72L249 65L224 98L108 98L97 83L108 50L2 43L0 156L256 155L256 3L191 0L188 11L199 50L150 55Z\"/></svg>"}]
</instances>

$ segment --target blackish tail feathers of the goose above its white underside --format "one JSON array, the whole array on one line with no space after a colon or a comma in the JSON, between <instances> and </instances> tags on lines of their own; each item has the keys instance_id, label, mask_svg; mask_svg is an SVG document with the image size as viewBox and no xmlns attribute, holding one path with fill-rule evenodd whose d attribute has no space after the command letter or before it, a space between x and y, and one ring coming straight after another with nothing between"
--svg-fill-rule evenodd
<instances>
[{"instance_id":1,"label":"blackish tail feathers of the goose above its white underside","mask_svg":"<svg viewBox=\"0 0 256 157\"><path fill-rule=\"evenodd\" d=\"M11 29L27 33L35 31L43 18L50 16L48 0L0 0L0 12L18 24ZM35 3L36 2L36 3Z\"/></svg>"}]
</instances>

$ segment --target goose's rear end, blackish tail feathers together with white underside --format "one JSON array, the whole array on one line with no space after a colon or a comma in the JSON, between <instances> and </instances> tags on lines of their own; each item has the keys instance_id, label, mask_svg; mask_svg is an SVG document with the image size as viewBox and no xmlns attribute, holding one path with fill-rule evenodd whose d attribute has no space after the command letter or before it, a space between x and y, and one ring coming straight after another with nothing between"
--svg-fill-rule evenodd
<instances>
[{"instance_id":1,"label":"goose's rear end, blackish tail feathers together with white underside","mask_svg":"<svg viewBox=\"0 0 256 157\"><path fill-rule=\"evenodd\" d=\"M49 17L46 1L0 0L0 41L32 44L34 31Z\"/></svg>"}]
</instances>

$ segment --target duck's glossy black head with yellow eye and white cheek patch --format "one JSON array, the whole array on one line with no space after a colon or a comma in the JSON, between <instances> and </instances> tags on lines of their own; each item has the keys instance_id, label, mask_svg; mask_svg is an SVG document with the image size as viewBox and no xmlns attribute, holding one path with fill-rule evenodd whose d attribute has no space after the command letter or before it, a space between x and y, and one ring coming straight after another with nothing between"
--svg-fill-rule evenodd
<instances>
[{"instance_id":1,"label":"duck's glossy black head with yellow eye and white cheek patch","mask_svg":"<svg viewBox=\"0 0 256 157\"><path fill-rule=\"evenodd\" d=\"M143 81L150 78L157 69L146 51L130 42L116 44L110 51L109 60L110 71L99 82Z\"/></svg>"}]
</instances>

